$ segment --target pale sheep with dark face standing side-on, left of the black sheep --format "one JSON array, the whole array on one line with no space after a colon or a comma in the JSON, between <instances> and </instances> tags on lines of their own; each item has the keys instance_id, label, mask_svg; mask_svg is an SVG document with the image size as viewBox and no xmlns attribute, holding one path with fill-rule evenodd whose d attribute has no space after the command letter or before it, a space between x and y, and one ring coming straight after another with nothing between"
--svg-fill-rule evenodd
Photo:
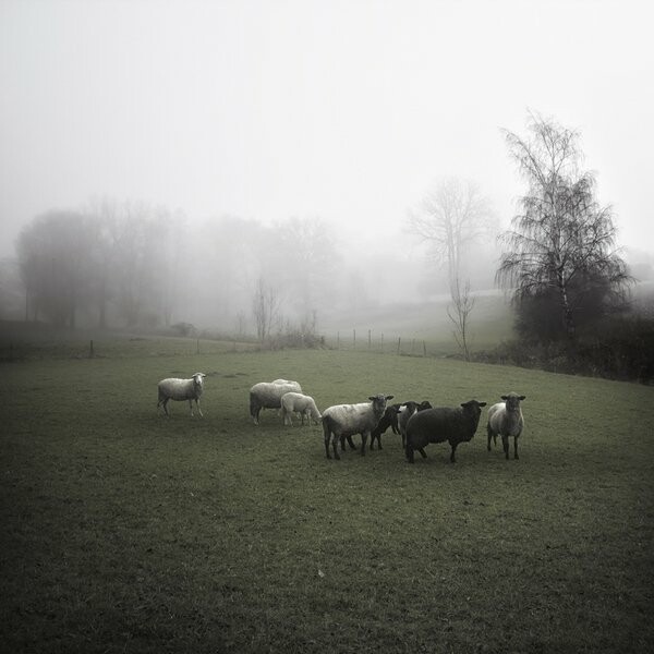
<instances>
[{"instance_id":1,"label":"pale sheep with dark face standing side-on, left of the black sheep","mask_svg":"<svg viewBox=\"0 0 654 654\"><path fill-rule=\"evenodd\" d=\"M323 411L323 432L325 434L325 453L329 456L329 439L334 449L334 458L338 456L338 440L341 443L341 449L344 449L344 439L354 448L352 436L361 434L361 453L365 455L365 444L368 434L377 426L377 423L384 415L386 402L391 400L392 396L376 395L368 398L370 402L359 404L335 404Z\"/></svg>"}]
</instances>

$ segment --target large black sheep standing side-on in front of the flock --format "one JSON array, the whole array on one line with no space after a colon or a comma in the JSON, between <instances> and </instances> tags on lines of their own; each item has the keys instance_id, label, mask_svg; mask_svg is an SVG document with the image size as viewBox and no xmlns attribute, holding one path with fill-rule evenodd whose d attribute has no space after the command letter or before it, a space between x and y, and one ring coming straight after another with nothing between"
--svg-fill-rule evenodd
<instances>
[{"instance_id":1,"label":"large black sheep standing side-on in front of the flock","mask_svg":"<svg viewBox=\"0 0 654 654\"><path fill-rule=\"evenodd\" d=\"M460 407L435 407L414 413L407 423L407 460L413 463L413 451L426 459L428 443L449 441L452 451L450 461L456 462L455 452L459 443L469 441L476 432L486 402L470 400Z\"/></svg>"}]
</instances>

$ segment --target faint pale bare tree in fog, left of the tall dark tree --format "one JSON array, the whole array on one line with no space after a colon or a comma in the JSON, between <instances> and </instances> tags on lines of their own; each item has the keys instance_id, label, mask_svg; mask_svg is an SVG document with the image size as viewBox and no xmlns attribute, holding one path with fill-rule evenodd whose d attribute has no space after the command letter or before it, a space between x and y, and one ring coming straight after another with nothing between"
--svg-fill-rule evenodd
<instances>
[{"instance_id":1,"label":"faint pale bare tree in fog, left of the tall dark tree","mask_svg":"<svg viewBox=\"0 0 654 654\"><path fill-rule=\"evenodd\" d=\"M449 178L439 182L409 214L409 227L432 247L433 254L447 265L452 299L461 275L465 246L491 231L488 201L475 182Z\"/></svg>"}]
</instances>

